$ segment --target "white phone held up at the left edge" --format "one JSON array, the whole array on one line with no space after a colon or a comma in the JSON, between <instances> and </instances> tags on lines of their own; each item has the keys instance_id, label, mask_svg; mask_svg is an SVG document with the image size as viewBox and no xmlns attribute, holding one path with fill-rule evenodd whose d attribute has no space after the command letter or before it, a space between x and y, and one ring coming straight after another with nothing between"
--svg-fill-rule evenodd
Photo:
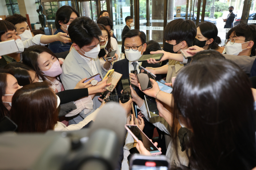
<instances>
[{"instance_id":1,"label":"white phone held up at the left edge","mask_svg":"<svg viewBox=\"0 0 256 170\"><path fill-rule=\"evenodd\" d=\"M18 51L19 49L14 39L0 42L0 56Z\"/></svg>"}]
</instances>

